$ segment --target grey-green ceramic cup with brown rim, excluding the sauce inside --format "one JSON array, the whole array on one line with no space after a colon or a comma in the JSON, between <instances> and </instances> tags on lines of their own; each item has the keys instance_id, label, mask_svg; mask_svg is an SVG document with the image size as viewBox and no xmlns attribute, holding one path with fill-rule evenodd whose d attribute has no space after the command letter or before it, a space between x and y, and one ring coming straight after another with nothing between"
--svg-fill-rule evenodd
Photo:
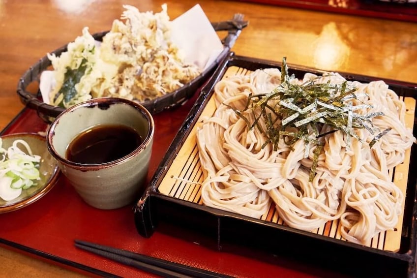
<instances>
[{"instance_id":1,"label":"grey-green ceramic cup with brown rim, excluding the sauce inside","mask_svg":"<svg viewBox=\"0 0 417 278\"><path fill-rule=\"evenodd\" d=\"M133 129L141 143L130 153L104 163L68 159L68 148L75 138L97 126L110 125ZM103 97L63 111L48 128L46 139L48 151L81 198L92 207L110 210L132 204L144 191L153 133L154 122L145 107L127 99ZM118 145L114 148L123 147Z\"/></svg>"}]
</instances>

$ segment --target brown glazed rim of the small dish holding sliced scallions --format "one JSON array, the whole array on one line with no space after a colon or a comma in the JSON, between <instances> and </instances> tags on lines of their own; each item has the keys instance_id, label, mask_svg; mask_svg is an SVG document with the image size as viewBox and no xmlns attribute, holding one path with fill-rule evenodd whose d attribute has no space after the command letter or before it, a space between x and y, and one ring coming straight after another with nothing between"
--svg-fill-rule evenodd
<instances>
[{"instance_id":1,"label":"brown glazed rim of the small dish holding sliced scallions","mask_svg":"<svg viewBox=\"0 0 417 278\"><path fill-rule=\"evenodd\" d=\"M1 137L1 139L9 138L9 137L16 137L16 139L17 138L22 138L23 139L24 137L28 137L28 136L39 139L40 141L45 142L45 145L46 145L46 138L44 136L38 134L38 133L33 133L33 132L10 133L10 134L1 135L0 137ZM17 203L13 203L13 204L6 205L6 206L0 206L0 214L7 213L7 212L13 212L13 211L16 211L18 209L22 209L26 206L29 206L33 202L39 200L41 197L45 196L46 193L48 193L54 187L54 185L57 183L58 178L59 178L60 168L59 168L59 166L56 162L54 164L55 164L55 167L51 171L51 176L45 182L45 184L42 185L44 187L41 190L39 190L39 192L33 194L32 196L30 196L26 199L23 199L23 200L19 201Z\"/></svg>"}]
</instances>

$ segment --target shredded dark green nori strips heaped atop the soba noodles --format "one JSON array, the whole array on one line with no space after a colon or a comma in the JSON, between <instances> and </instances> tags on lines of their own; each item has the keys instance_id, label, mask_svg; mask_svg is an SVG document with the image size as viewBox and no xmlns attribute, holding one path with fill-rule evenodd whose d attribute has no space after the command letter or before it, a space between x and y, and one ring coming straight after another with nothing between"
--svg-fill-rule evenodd
<instances>
[{"instance_id":1,"label":"shredded dark green nori strips heaped atop the soba noodles","mask_svg":"<svg viewBox=\"0 0 417 278\"><path fill-rule=\"evenodd\" d=\"M347 149L350 148L350 138L354 137L363 143L359 138L355 128L365 128L371 134L379 132L372 124L374 117L383 116L382 112L369 113L367 115L359 115L355 113L358 109L372 108L372 106L359 103L352 105L350 100L358 100L357 88L351 83L344 81L342 84L332 84L330 81L326 83L316 83L320 78L329 76L322 75L307 80L299 85L292 82L296 77L289 75L287 59L283 57L281 65L281 84L275 87L271 92L259 95L249 95L246 107L242 111L234 111L239 117L245 120L249 128L257 127L267 137L267 144L273 144L273 150L278 148L279 139L286 136L285 144L293 149L293 145L299 139L303 139L306 144L305 155L309 150L309 143L317 145L313 159L313 166L310 173L310 181L314 178L314 173L318 163L318 156L323 150L324 143L319 139L333 133L337 130L347 134ZM271 106L272 101L274 106ZM279 105L277 105L279 104ZM230 107L230 106L229 106ZM259 109L259 110L258 110ZM249 123L248 119L243 116L243 112L252 110L255 122ZM260 115L255 115L254 111L260 111ZM259 119L265 121L266 130L262 130ZM328 124L332 130L319 134L321 126ZM289 128L297 128L298 132L287 131ZM386 129L380 132L370 142L370 147L375 144L382 136L387 134ZM310 136L312 132L313 136Z\"/></svg>"}]
</instances>

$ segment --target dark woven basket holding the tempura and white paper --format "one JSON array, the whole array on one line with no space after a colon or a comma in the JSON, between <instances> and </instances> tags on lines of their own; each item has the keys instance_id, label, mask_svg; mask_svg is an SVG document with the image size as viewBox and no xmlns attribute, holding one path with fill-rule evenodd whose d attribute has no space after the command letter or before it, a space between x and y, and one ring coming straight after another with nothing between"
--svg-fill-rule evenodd
<instances>
[{"instance_id":1,"label":"dark woven basket holding the tempura and white paper","mask_svg":"<svg viewBox=\"0 0 417 278\"><path fill-rule=\"evenodd\" d=\"M224 45L223 51L207 69L205 69L199 76L194 78L191 82L179 88L178 90L167 93L161 97L153 100L141 102L151 114L159 113L163 110L170 109L181 105L200 88L204 82L211 76L217 65L227 56L230 49L234 45L241 30L248 25L247 21L242 20L242 15L235 15L231 20L212 23L215 31L228 31L226 37L222 40ZM94 39L101 41L103 36L108 31L95 33L92 36ZM64 45L51 54L60 56L62 52L67 51L67 45ZM47 56L44 56L34 65L32 65L20 78L17 93L27 107L35 109L38 116L45 122L51 123L61 112L65 109L59 106L53 106L42 101L42 96L39 90L40 74L51 68L51 61ZM30 89L29 89L30 88ZM31 92L30 92L31 91Z\"/></svg>"}]
</instances>

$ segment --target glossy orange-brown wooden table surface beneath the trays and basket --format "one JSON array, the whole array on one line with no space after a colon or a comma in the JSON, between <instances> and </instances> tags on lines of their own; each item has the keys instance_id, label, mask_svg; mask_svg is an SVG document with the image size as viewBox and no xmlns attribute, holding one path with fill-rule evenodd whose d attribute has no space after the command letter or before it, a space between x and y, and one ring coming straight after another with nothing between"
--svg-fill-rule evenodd
<instances>
[{"instance_id":1,"label":"glossy orange-brown wooden table surface beneath the trays and basket","mask_svg":"<svg viewBox=\"0 0 417 278\"><path fill-rule=\"evenodd\" d=\"M417 24L239 1L210 0L21 0L0 1L0 128L23 108L16 94L20 76L38 59L72 41L88 26L108 30L123 4L176 18L200 3L210 21L243 13L249 26L233 51L281 61L417 83ZM1 229L1 223L0 223ZM71 270L0 247L4 277L77 276Z\"/></svg>"}]
</instances>

